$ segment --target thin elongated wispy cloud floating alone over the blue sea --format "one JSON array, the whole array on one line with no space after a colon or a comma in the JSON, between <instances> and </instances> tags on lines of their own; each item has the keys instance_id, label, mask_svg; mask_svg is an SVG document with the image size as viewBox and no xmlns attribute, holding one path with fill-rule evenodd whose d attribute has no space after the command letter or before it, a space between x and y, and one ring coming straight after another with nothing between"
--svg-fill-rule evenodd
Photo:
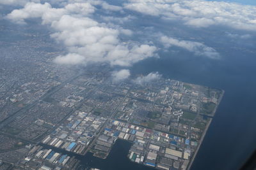
<instances>
[{"instance_id":1,"label":"thin elongated wispy cloud floating alone over the blue sea","mask_svg":"<svg viewBox=\"0 0 256 170\"><path fill-rule=\"evenodd\" d=\"M175 38L170 38L167 36L161 36L160 41L166 48L169 48L170 46L178 46L180 48L188 50L189 52L195 53L195 55L209 57L211 59L220 58L220 54L216 52L214 48L206 46L203 43L198 43L195 41L184 41Z\"/></svg>"}]
</instances>

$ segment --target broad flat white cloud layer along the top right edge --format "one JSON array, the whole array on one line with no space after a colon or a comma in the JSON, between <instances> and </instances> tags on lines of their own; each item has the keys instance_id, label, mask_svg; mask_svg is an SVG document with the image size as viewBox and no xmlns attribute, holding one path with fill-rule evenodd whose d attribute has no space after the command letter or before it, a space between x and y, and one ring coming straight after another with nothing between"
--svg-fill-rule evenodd
<instances>
[{"instance_id":1,"label":"broad flat white cloud layer along the top right edge","mask_svg":"<svg viewBox=\"0 0 256 170\"><path fill-rule=\"evenodd\" d=\"M129 0L124 8L164 19L182 20L193 27L225 25L256 30L256 6L204 0Z\"/></svg>"}]
</instances>

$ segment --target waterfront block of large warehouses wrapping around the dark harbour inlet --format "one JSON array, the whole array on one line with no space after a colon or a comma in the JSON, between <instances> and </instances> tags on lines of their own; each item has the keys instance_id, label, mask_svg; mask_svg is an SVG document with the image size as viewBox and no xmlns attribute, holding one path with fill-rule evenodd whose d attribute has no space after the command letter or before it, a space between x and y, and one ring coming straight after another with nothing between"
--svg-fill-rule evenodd
<instances>
[{"instance_id":1,"label":"waterfront block of large warehouses wrapping around the dark harbour inlet","mask_svg":"<svg viewBox=\"0 0 256 170\"><path fill-rule=\"evenodd\" d=\"M197 146L195 141L180 136L113 120L97 139L95 156L106 158L116 139L132 143L127 155L132 162L157 169L186 169ZM104 147L99 148L99 145Z\"/></svg>"}]
</instances>

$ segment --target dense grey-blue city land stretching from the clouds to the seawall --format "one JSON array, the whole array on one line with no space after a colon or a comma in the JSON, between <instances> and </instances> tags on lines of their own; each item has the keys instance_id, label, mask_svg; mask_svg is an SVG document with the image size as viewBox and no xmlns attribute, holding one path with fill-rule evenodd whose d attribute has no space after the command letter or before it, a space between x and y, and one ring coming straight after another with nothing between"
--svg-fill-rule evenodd
<instances>
[{"instance_id":1,"label":"dense grey-blue city land stretching from the clouds to the seawall","mask_svg":"<svg viewBox=\"0 0 256 170\"><path fill-rule=\"evenodd\" d=\"M189 169L223 90L113 82L108 64L58 66L62 49L44 36L0 42L0 169L78 169L73 153L106 159L117 139L132 143L134 164Z\"/></svg>"}]
</instances>

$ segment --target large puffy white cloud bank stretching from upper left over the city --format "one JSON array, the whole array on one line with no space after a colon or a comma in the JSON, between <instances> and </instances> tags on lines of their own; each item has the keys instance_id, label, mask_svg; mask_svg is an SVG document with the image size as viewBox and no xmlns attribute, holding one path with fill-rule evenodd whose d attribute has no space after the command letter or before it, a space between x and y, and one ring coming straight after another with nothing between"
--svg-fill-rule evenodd
<instances>
[{"instance_id":1,"label":"large puffy white cloud bank stretching from upper left over the city","mask_svg":"<svg viewBox=\"0 0 256 170\"><path fill-rule=\"evenodd\" d=\"M98 3L93 1L92 4ZM131 66L156 56L156 46L138 42L122 43L119 36L131 36L132 31L129 29L99 23L90 18L90 14L95 11L92 4L71 3L63 8L52 8L49 3L27 3L22 9L13 10L6 18L19 24L26 23L28 18L42 18L42 24L51 25L54 29L51 38L63 43L68 50L67 55L58 56L54 60L60 64L108 62L113 66Z\"/></svg>"}]
</instances>

